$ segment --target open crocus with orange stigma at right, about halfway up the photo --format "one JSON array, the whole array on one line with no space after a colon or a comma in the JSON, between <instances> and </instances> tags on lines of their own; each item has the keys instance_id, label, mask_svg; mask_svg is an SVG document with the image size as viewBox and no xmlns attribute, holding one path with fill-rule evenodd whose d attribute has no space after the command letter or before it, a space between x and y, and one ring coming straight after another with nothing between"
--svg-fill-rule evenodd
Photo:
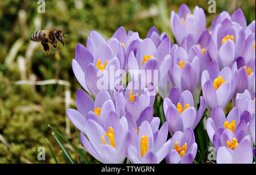
<instances>
[{"instance_id":1,"label":"open crocus with orange stigma at right, about halfway up the photo","mask_svg":"<svg viewBox=\"0 0 256 175\"><path fill-rule=\"evenodd\" d=\"M203 97L208 110L219 105L225 109L236 89L236 78L232 75L229 67L220 71L216 62L211 62L207 70L201 75Z\"/></svg>"}]
</instances>

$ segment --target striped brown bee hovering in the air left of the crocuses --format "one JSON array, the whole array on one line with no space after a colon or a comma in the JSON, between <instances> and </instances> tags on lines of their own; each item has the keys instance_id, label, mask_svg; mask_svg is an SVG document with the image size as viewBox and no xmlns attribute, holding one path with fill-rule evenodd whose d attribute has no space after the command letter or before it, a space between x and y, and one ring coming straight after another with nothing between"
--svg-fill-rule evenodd
<instances>
[{"instance_id":1,"label":"striped brown bee hovering in the air left of the crocuses","mask_svg":"<svg viewBox=\"0 0 256 175\"><path fill-rule=\"evenodd\" d=\"M69 33L69 32L66 32ZM50 29L50 30L43 30L43 31L36 31L35 33L32 34L30 40L31 41L36 41L36 42L41 42L44 48L44 52L46 55L49 55L49 43L53 45L55 49L57 49L57 41L60 41L63 46L63 38L67 38L64 35L66 33L62 33L59 30L56 29Z\"/></svg>"}]
</instances>

